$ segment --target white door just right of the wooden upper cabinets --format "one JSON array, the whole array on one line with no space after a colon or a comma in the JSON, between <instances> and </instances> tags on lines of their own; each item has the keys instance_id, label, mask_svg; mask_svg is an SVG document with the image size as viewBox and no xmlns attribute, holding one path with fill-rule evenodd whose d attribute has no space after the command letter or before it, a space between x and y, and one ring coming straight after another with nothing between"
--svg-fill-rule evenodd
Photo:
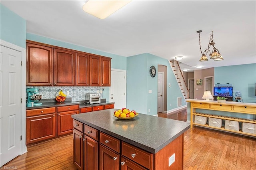
<instances>
[{"instance_id":1,"label":"white door just right of the wooden upper cabinets","mask_svg":"<svg viewBox=\"0 0 256 170\"><path fill-rule=\"evenodd\" d=\"M126 107L126 71L111 69L111 87L109 101L115 103L116 109Z\"/></svg>"}]
</instances>

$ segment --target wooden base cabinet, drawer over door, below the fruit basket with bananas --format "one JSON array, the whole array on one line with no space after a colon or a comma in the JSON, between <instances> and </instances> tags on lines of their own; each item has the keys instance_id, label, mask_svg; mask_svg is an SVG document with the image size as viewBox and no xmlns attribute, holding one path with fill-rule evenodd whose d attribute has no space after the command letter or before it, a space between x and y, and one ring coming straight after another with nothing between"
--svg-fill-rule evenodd
<instances>
[{"instance_id":1,"label":"wooden base cabinet, drawer over door, below the fruit basket with bananas","mask_svg":"<svg viewBox=\"0 0 256 170\"><path fill-rule=\"evenodd\" d=\"M73 119L71 115L79 113L79 105L57 107L57 136L72 134Z\"/></svg>"}]
</instances>

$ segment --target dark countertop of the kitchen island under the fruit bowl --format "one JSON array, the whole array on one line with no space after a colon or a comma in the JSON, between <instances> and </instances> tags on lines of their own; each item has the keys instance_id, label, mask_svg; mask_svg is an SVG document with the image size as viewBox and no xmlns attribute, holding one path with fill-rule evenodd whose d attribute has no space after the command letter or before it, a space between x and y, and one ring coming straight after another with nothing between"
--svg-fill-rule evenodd
<instances>
[{"instance_id":1,"label":"dark countertop of the kitchen island under the fruit bowl","mask_svg":"<svg viewBox=\"0 0 256 170\"><path fill-rule=\"evenodd\" d=\"M118 119L113 116L116 110L81 113L72 118L153 154L190 128L186 122L145 114Z\"/></svg>"}]
</instances>

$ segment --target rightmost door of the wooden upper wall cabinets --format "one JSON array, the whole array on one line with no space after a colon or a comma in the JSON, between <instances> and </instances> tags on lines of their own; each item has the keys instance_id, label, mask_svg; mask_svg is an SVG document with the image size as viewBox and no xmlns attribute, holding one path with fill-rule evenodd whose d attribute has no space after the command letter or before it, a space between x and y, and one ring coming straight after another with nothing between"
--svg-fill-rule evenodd
<instances>
[{"instance_id":1,"label":"rightmost door of the wooden upper wall cabinets","mask_svg":"<svg viewBox=\"0 0 256 170\"><path fill-rule=\"evenodd\" d=\"M101 57L101 86L110 86L111 58Z\"/></svg>"}]
</instances>

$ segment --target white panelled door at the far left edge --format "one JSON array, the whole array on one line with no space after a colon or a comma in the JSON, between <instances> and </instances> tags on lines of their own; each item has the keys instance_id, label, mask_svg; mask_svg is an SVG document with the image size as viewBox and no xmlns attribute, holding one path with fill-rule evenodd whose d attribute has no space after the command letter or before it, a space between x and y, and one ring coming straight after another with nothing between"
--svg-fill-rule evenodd
<instances>
[{"instance_id":1,"label":"white panelled door at the far left edge","mask_svg":"<svg viewBox=\"0 0 256 170\"><path fill-rule=\"evenodd\" d=\"M0 166L21 154L21 52L0 46Z\"/></svg>"}]
</instances>

